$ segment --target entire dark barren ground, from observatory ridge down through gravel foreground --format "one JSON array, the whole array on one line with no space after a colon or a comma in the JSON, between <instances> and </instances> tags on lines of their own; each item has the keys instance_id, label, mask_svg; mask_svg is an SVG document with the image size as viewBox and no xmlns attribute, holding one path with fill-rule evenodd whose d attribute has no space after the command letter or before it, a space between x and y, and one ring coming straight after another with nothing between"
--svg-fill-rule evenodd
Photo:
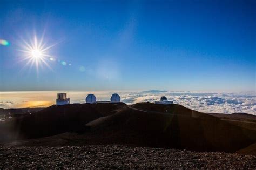
<instances>
[{"instance_id":1,"label":"entire dark barren ground, from observatory ridge down through gravel foreground","mask_svg":"<svg viewBox=\"0 0 256 170\"><path fill-rule=\"evenodd\" d=\"M255 169L255 120L176 104L53 105L0 122L0 168Z\"/></svg>"}]
</instances>

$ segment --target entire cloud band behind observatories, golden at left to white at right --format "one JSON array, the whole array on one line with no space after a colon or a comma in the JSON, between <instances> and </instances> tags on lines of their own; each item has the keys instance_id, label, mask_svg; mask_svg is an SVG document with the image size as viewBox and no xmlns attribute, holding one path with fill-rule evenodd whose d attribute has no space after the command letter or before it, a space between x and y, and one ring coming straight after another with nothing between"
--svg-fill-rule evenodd
<instances>
[{"instance_id":1,"label":"entire cloud band behind observatories, golden at left to white at right","mask_svg":"<svg viewBox=\"0 0 256 170\"><path fill-rule=\"evenodd\" d=\"M116 92L72 92L66 91L71 103L84 103L89 93L95 94L98 101L110 100L111 94ZM243 112L256 115L255 92L242 93L210 93L190 91L142 91L118 92L121 100L126 104L138 102L154 102L161 96L200 112L235 113ZM0 95L0 108L48 107L55 104L57 91L42 92L6 92ZM34 101L36 100L36 101ZM30 105L28 105L30 104ZM32 104L32 105L31 105Z\"/></svg>"}]
</instances>

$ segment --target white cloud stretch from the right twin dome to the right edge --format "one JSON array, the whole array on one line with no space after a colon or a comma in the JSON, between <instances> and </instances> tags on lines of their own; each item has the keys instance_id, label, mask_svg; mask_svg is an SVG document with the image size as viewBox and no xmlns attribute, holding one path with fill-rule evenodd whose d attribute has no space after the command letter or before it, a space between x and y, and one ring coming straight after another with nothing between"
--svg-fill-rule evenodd
<instances>
[{"instance_id":1,"label":"white cloud stretch from the right twin dome to the right edge","mask_svg":"<svg viewBox=\"0 0 256 170\"><path fill-rule=\"evenodd\" d=\"M205 93L182 91L144 91L120 95L126 104L154 102L161 96L187 108L200 112L235 113L243 112L256 115L255 92L243 93Z\"/></svg>"}]
</instances>

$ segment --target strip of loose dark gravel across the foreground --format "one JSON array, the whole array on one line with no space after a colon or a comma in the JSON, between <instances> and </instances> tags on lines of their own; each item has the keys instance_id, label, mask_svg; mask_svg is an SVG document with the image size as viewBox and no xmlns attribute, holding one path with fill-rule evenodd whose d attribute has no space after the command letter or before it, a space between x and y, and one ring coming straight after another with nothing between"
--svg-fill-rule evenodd
<instances>
[{"instance_id":1,"label":"strip of loose dark gravel across the foreground","mask_svg":"<svg viewBox=\"0 0 256 170\"><path fill-rule=\"evenodd\" d=\"M255 169L256 155L177 149L89 145L0 147L0 169L21 168L228 168Z\"/></svg>"}]
</instances>

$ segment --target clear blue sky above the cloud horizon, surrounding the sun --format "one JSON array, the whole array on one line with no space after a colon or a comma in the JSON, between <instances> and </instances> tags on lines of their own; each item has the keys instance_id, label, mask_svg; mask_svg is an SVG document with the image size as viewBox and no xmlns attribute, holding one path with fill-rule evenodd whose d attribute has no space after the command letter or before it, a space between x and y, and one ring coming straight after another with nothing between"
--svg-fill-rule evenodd
<instances>
[{"instance_id":1,"label":"clear blue sky above the cloud horizon, surrounding the sun","mask_svg":"<svg viewBox=\"0 0 256 170\"><path fill-rule=\"evenodd\" d=\"M0 10L10 42L0 46L0 91L255 91L255 1L1 1ZM18 50L43 32L58 43L48 51L56 61L37 72Z\"/></svg>"}]
</instances>

